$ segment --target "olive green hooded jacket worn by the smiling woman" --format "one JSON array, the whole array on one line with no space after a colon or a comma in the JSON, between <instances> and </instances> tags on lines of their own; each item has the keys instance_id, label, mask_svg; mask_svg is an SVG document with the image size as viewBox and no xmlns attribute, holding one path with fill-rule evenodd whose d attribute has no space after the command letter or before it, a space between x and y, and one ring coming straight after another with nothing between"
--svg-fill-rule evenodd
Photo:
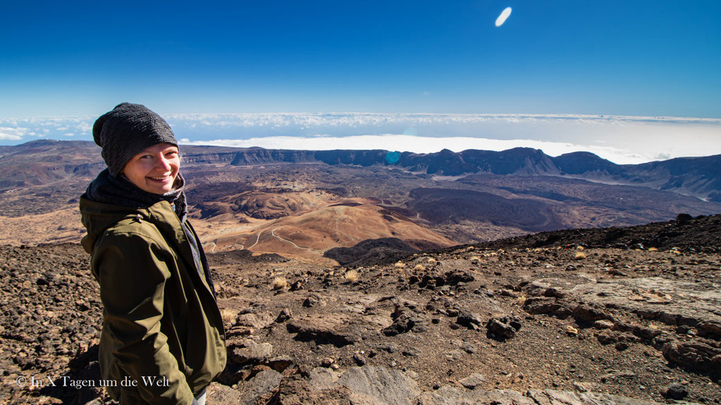
<instances>
[{"instance_id":1,"label":"olive green hooded jacket worn by the smiling woman","mask_svg":"<svg viewBox=\"0 0 721 405\"><path fill-rule=\"evenodd\" d=\"M195 268L180 219L166 201L126 208L83 196L80 211L105 307L102 378L118 382L110 396L191 404L225 368L226 347L213 288ZM133 380L137 387L125 387Z\"/></svg>"}]
</instances>

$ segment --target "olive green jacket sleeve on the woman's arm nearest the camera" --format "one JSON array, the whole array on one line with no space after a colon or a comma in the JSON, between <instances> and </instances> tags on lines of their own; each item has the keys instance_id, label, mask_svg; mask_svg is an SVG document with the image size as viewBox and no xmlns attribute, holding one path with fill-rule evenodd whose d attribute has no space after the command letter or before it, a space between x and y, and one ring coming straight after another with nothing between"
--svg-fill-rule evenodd
<instances>
[{"instance_id":1,"label":"olive green jacket sleeve on the woman's arm nearest the camera","mask_svg":"<svg viewBox=\"0 0 721 405\"><path fill-rule=\"evenodd\" d=\"M147 236L115 233L95 246L92 265L118 367L138 381L138 392L149 404L192 404L193 393L160 327L171 275L167 260L171 254Z\"/></svg>"}]
</instances>

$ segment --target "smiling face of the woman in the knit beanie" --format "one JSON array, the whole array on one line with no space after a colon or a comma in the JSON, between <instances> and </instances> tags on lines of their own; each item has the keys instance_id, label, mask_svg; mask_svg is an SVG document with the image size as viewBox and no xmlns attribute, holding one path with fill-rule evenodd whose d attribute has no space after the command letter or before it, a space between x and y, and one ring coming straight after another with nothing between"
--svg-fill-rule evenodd
<instances>
[{"instance_id":1,"label":"smiling face of the woman in the knit beanie","mask_svg":"<svg viewBox=\"0 0 721 405\"><path fill-rule=\"evenodd\" d=\"M141 190L164 194L173 190L178 170L180 156L177 146L158 143L133 156L122 173Z\"/></svg>"}]
</instances>

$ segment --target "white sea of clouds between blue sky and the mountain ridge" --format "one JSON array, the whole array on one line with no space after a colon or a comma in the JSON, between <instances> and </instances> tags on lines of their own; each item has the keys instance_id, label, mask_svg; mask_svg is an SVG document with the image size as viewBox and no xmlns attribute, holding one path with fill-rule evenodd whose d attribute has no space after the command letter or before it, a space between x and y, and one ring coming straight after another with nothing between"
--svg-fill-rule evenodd
<instances>
[{"instance_id":1,"label":"white sea of clouds between blue sky and the mountain ridge","mask_svg":"<svg viewBox=\"0 0 721 405\"><path fill-rule=\"evenodd\" d=\"M184 144L431 153L518 146L551 156L590 151L618 164L721 154L721 120L521 114L164 114ZM0 118L0 144L92 140L97 117Z\"/></svg>"}]
</instances>

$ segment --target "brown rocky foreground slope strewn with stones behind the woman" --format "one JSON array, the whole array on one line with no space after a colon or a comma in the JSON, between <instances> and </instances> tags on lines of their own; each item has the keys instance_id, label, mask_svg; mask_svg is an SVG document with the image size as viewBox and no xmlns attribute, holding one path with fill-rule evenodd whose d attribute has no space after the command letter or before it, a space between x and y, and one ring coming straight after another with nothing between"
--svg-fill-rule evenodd
<instances>
[{"instance_id":1,"label":"brown rocky foreground slope strewn with stones behind the woman","mask_svg":"<svg viewBox=\"0 0 721 405\"><path fill-rule=\"evenodd\" d=\"M608 247L562 231L366 267L212 254L229 364L208 401L721 404L717 219L626 229L635 239ZM659 230L695 239L636 241ZM87 262L76 244L0 247L1 401L107 402L78 387L98 378Z\"/></svg>"}]
</instances>

